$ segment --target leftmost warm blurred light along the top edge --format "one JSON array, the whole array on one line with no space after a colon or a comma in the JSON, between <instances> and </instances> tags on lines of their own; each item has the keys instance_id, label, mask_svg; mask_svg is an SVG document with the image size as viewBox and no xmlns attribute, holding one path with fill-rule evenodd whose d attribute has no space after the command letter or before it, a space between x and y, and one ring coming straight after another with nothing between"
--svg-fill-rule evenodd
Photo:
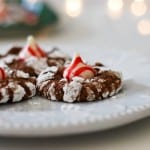
<instances>
[{"instance_id":1,"label":"leftmost warm blurred light along the top edge","mask_svg":"<svg viewBox=\"0 0 150 150\"><path fill-rule=\"evenodd\" d=\"M82 0L66 0L65 11L70 17L79 16L82 11Z\"/></svg>"}]
</instances>

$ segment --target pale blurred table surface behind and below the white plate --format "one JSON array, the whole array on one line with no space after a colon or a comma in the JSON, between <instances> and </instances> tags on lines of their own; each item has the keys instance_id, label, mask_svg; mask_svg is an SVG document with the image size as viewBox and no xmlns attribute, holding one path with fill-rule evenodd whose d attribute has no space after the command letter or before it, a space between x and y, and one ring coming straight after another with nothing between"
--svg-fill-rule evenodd
<instances>
[{"instance_id":1,"label":"pale blurred table surface behind and below the white plate","mask_svg":"<svg viewBox=\"0 0 150 150\"><path fill-rule=\"evenodd\" d=\"M51 0L55 7L63 12L63 2ZM61 2L61 4L60 4ZM69 53L69 49L79 51L84 56L89 53L89 58L94 55L94 50L134 51L150 57L150 35L141 35L137 30L137 23L142 19L149 19L145 14L135 17L128 6L124 7L123 15L116 20L107 15L106 2L103 0L84 1L84 8L80 16L68 18L65 14L62 23L53 31L43 31L38 34L41 46L50 45L62 47ZM149 8L150 9L150 8ZM1 49L12 45L22 45L25 39L0 39ZM95 59L99 56L94 55ZM149 80L150 81L150 80ZM150 85L150 84L149 84ZM0 149L106 149L106 150L147 150L150 147L150 118L140 120L133 124L109 131L47 138L8 138L0 137Z\"/></svg>"}]
</instances>

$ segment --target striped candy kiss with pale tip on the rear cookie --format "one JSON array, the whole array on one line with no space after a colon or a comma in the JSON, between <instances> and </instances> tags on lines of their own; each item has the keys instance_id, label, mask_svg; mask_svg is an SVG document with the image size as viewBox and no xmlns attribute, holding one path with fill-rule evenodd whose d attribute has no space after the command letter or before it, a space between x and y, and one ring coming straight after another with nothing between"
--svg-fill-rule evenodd
<instances>
[{"instance_id":1,"label":"striped candy kiss with pale tip on the rear cookie","mask_svg":"<svg viewBox=\"0 0 150 150\"><path fill-rule=\"evenodd\" d=\"M34 57L45 57L45 52L37 45L35 42L34 37L29 36L27 40L27 45L23 48L23 50L20 52L19 57L20 58L29 58L31 56Z\"/></svg>"}]
</instances>

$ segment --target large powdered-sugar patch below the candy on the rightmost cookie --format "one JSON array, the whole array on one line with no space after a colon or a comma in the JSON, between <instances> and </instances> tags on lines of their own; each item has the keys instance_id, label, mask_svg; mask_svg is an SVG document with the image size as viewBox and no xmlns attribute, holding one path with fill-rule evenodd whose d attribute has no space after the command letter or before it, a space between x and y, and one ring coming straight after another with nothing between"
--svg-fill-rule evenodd
<instances>
[{"instance_id":1,"label":"large powdered-sugar patch below the candy on the rightmost cookie","mask_svg":"<svg viewBox=\"0 0 150 150\"><path fill-rule=\"evenodd\" d=\"M83 81L83 78L74 77L73 81L71 81L70 83L66 83L63 87L63 100L66 102L74 102L75 100L77 100L77 97L79 96L82 88Z\"/></svg>"}]
</instances>

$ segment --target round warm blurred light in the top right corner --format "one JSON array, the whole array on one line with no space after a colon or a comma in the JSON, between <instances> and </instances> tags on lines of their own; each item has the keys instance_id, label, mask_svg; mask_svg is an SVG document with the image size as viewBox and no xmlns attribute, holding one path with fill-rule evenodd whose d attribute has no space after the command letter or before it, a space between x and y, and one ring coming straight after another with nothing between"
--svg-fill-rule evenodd
<instances>
[{"instance_id":1,"label":"round warm blurred light in the top right corner","mask_svg":"<svg viewBox=\"0 0 150 150\"><path fill-rule=\"evenodd\" d=\"M131 4L131 12L135 16L142 16L147 11L147 5L144 0L134 0Z\"/></svg>"}]
</instances>

